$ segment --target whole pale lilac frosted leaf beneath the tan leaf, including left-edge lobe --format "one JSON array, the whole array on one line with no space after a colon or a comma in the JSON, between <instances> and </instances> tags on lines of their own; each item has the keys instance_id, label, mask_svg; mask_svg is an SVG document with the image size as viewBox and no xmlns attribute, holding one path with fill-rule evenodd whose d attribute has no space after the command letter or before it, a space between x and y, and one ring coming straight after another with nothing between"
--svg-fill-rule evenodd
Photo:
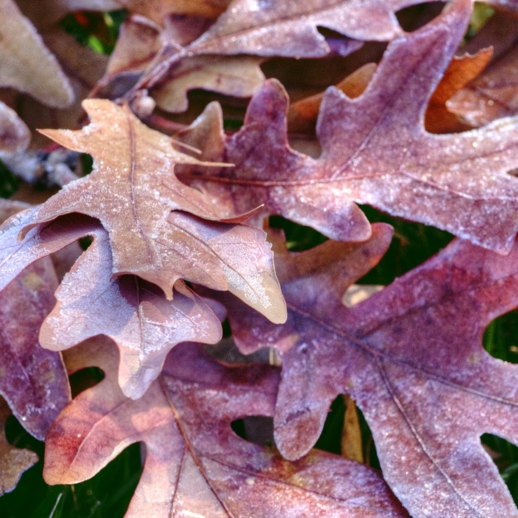
<instances>
[{"instance_id":1,"label":"whole pale lilac frosted leaf beneath the tan leaf, including left-edge lobe","mask_svg":"<svg viewBox=\"0 0 518 518\"><path fill-rule=\"evenodd\" d=\"M18 223L31 221L31 212L19 214ZM138 398L146 392L177 343L215 343L221 338L219 318L182 281L175 283L174 299L167 300L156 286L135 276L111 279L107 233L95 220L79 214L58 218L32 228L22 242L16 239L18 231L17 224L4 230L0 289L19 279L22 269L39 257L84 236L94 237L63 278L57 304L47 309L45 315L50 314L41 323L39 340L47 349L62 351L91 336L109 336L121 353L119 383L126 396Z\"/></svg>"}]
</instances>

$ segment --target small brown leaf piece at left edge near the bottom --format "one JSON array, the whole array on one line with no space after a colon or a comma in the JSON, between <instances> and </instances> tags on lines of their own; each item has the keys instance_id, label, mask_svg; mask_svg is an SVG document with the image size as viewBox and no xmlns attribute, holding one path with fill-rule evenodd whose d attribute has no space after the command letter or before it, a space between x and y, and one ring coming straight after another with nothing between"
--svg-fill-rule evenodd
<instances>
[{"instance_id":1,"label":"small brown leaf piece at left edge near the bottom","mask_svg":"<svg viewBox=\"0 0 518 518\"><path fill-rule=\"evenodd\" d=\"M0 397L0 496L12 491L22 473L38 462L36 453L11 446L5 436L5 423L11 415L7 403Z\"/></svg>"}]
</instances>

